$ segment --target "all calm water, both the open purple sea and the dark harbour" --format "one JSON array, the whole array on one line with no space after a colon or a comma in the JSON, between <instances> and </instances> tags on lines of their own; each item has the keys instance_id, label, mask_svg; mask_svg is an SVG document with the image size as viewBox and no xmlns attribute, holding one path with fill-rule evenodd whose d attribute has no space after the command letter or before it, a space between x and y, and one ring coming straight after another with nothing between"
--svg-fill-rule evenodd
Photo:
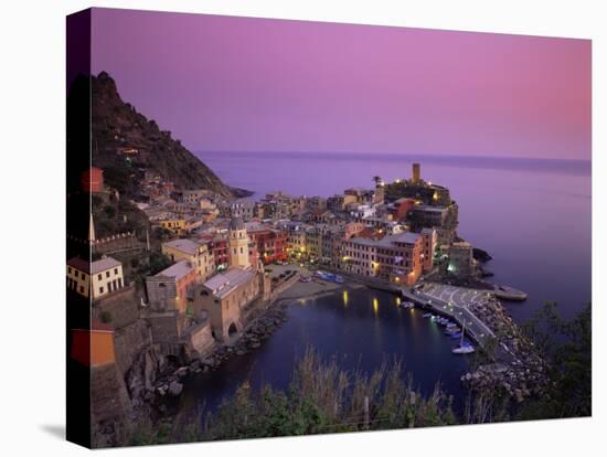
<instances>
[{"instance_id":1,"label":"all calm water, both the open purple sea and the dark harbour","mask_svg":"<svg viewBox=\"0 0 607 457\"><path fill-rule=\"evenodd\" d=\"M385 180L409 177L411 163L419 161L423 178L447 185L459 203L460 235L494 257L488 264L493 280L529 293L526 301L507 304L515 320L531 317L543 300L557 301L566 316L590 300L588 162L319 153L200 157L225 182L256 196L274 190L328 196L349 187L372 187L375 174ZM418 311L395 308L390 294L351 293L348 306L339 294L294 301L288 317L256 352L191 382L182 397L185 411L202 403L215 407L245 380L286 387L308 344L336 355L347 369L369 372L385 357L400 357L425 392L439 380L462 401L458 380L466 360L450 353L454 342Z\"/></svg>"}]
</instances>

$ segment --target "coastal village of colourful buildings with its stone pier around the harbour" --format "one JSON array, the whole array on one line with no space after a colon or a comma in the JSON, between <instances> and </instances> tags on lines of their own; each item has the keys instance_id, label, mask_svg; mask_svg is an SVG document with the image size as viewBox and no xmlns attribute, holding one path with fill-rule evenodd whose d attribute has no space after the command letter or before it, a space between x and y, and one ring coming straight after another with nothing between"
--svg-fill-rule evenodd
<instances>
[{"instance_id":1,"label":"coastal village of colourful buildings with its stone pier around the harbour","mask_svg":"<svg viewBox=\"0 0 607 457\"><path fill-rule=\"evenodd\" d=\"M145 171L130 202L149 221L145 233L97 237L93 211L87 240L71 240L89 248L92 262L68 258L66 275L68 294L93 304L89 328L73 329L71 355L92 370L100 439L125 418L166 412L162 400L179 396L191 373L260 347L286 319L286 291L299 287L305 297L319 284L391 290L462 339L494 340L491 363L462 382L501 385L519 402L539 394L542 361L499 301L524 294L484 281L490 257L458 237L449 190L425 181L419 163L407 178L370 182L329 198L277 191L254 200L179 189ZM120 200L100 168L86 170L82 183L100 202ZM160 269L139 275L152 256ZM455 302L454 291L473 294Z\"/></svg>"}]
</instances>

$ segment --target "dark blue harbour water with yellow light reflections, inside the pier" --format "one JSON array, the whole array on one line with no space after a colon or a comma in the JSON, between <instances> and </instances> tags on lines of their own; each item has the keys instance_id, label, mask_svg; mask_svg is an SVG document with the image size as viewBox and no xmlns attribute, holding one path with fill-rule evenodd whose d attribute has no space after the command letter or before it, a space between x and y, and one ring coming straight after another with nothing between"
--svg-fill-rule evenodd
<instances>
[{"instance_id":1,"label":"dark blue harbour water with yellow light reflections, inside the pier","mask_svg":"<svg viewBox=\"0 0 607 457\"><path fill-rule=\"evenodd\" d=\"M214 410L244 381L254 387L270 384L287 389L297 360L308 346L326 358L334 358L345 370L366 373L396 358L403 362L404 380L411 372L414 385L426 394L440 382L461 405L465 391L459 376L469 359L454 355L452 341L423 313L396 306L392 294L366 288L309 298L306 305L294 300L287 310L288 321L260 348L191 380L185 385L182 407L185 414L196 414L202 404Z\"/></svg>"}]
</instances>

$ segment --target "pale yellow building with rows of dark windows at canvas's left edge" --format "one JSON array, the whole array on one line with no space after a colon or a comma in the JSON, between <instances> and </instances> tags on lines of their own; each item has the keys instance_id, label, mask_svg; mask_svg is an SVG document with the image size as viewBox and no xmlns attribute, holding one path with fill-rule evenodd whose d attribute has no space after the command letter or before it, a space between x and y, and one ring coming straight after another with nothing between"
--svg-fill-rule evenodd
<instances>
[{"instance_id":1,"label":"pale yellow building with rows of dark windows at canvas's left edge","mask_svg":"<svg viewBox=\"0 0 607 457\"><path fill-rule=\"evenodd\" d=\"M93 263L79 257L67 261L67 288L84 297L95 300L123 287L123 264L113 257Z\"/></svg>"}]
</instances>

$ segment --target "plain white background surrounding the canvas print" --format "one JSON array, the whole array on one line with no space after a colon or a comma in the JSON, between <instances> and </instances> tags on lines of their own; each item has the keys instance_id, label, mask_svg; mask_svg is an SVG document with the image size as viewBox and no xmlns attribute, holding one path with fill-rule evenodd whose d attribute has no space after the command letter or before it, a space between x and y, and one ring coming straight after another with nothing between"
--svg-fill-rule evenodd
<instances>
[{"instance_id":1,"label":"plain white background surrounding the canvas print","mask_svg":"<svg viewBox=\"0 0 607 457\"><path fill-rule=\"evenodd\" d=\"M209 12L588 38L593 40L594 417L115 450L132 456L597 455L605 421L605 82L603 1L19 1L2 3L0 46L0 449L79 455L63 439L65 15L96 7ZM605 128L605 127L604 127ZM603 203L601 203L603 202ZM564 214L566 216L566 214ZM566 241L564 241L566 242ZM601 280L603 279L603 280Z\"/></svg>"}]
</instances>

